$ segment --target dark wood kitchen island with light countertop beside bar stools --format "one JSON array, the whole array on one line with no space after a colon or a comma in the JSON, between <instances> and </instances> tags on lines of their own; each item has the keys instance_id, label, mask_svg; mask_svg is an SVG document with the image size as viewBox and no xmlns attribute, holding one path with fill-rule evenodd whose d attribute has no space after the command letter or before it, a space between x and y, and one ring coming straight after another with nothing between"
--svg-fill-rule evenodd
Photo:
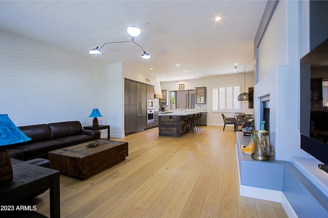
<instances>
[{"instance_id":1,"label":"dark wood kitchen island with light countertop beside bar stools","mask_svg":"<svg viewBox=\"0 0 328 218\"><path fill-rule=\"evenodd\" d=\"M158 135L172 137L182 136L183 123L185 123L184 120L197 113L198 112L185 111L158 113Z\"/></svg>"}]
</instances>

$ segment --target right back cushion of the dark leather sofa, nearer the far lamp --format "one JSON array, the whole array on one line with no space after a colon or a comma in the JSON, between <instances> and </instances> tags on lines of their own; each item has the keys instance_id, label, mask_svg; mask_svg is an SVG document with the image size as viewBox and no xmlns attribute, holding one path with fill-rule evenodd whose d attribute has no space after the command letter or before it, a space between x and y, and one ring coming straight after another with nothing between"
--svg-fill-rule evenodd
<instances>
[{"instance_id":1,"label":"right back cushion of the dark leather sofa, nearer the far lamp","mask_svg":"<svg viewBox=\"0 0 328 218\"><path fill-rule=\"evenodd\" d=\"M68 121L48 124L52 139L78 135L82 130L82 125L79 121Z\"/></svg>"}]
</instances>

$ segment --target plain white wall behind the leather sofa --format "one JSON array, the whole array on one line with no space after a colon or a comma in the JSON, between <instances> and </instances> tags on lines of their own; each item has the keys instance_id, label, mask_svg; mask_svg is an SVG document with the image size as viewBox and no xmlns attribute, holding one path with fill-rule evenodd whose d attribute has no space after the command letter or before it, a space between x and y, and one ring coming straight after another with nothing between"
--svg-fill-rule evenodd
<instances>
[{"instance_id":1,"label":"plain white wall behind the leather sofa","mask_svg":"<svg viewBox=\"0 0 328 218\"><path fill-rule=\"evenodd\" d=\"M0 31L0 113L17 126L79 120L107 124L107 66ZM104 80L106 78L106 80Z\"/></svg>"}]
</instances>

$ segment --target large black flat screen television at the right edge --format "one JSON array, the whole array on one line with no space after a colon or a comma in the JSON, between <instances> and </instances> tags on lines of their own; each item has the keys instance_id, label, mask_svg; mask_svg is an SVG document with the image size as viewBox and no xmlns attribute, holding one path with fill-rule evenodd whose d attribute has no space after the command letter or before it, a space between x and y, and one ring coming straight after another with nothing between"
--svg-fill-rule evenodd
<instances>
[{"instance_id":1,"label":"large black flat screen television at the right edge","mask_svg":"<svg viewBox=\"0 0 328 218\"><path fill-rule=\"evenodd\" d=\"M301 149L328 164L328 39L300 59Z\"/></svg>"}]
</instances>

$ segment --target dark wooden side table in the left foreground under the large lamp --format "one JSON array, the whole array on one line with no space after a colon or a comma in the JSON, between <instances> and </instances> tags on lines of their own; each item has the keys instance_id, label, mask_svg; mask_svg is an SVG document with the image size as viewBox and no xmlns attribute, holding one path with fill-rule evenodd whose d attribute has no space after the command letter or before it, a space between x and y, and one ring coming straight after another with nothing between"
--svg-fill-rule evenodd
<instances>
[{"instance_id":1,"label":"dark wooden side table in the left foreground under the large lamp","mask_svg":"<svg viewBox=\"0 0 328 218\"><path fill-rule=\"evenodd\" d=\"M50 217L60 217L60 171L29 163L14 164L12 169L13 179L0 183L0 205L7 206L2 212L7 213L6 215L22 212L13 206L15 202L26 202L31 196L37 194L40 188L49 187ZM28 207L28 205L22 206ZM37 212L37 208L28 209L30 211L26 212Z\"/></svg>"}]
</instances>

